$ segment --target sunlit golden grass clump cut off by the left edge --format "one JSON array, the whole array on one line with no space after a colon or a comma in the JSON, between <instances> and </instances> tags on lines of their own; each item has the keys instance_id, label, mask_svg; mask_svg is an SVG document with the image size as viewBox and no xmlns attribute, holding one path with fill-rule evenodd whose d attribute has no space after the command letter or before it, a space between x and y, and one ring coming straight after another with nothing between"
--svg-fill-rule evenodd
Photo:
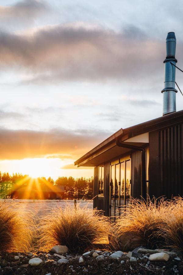
<instances>
[{"instance_id":1,"label":"sunlit golden grass clump cut off by the left edge","mask_svg":"<svg viewBox=\"0 0 183 275\"><path fill-rule=\"evenodd\" d=\"M30 251L34 236L31 214L16 202L0 199L0 251Z\"/></svg>"}]
</instances>

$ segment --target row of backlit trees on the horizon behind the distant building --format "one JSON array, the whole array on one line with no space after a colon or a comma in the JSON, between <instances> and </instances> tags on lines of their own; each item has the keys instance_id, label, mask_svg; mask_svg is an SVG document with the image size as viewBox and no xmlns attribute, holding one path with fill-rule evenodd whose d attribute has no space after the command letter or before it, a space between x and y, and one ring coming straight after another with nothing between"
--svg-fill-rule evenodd
<instances>
[{"instance_id":1,"label":"row of backlit trees on the horizon behind the distant building","mask_svg":"<svg viewBox=\"0 0 183 275\"><path fill-rule=\"evenodd\" d=\"M0 172L0 196L4 197L11 193L14 184L27 185L31 178L28 175L19 173L10 175L9 173ZM65 189L65 199L68 200L91 200L93 198L93 177L91 178L77 178L73 177L59 177L55 181L49 177L40 177L37 179L40 185L63 185Z\"/></svg>"}]
</instances>

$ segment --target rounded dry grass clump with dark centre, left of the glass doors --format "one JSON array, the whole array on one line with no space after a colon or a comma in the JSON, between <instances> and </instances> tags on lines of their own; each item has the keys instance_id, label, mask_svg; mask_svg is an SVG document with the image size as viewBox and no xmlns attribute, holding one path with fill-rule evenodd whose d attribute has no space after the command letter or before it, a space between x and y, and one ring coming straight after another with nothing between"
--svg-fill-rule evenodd
<instances>
[{"instance_id":1,"label":"rounded dry grass clump with dark centre, left of the glass doors","mask_svg":"<svg viewBox=\"0 0 183 275\"><path fill-rule=\"evenodd\" d=\"M66 245L71 252L94 248L96 243L109 237L113 243L113 230L109 218L91 208L77 208L69 204L64 209L52 209L41 218L39 247L49 251L54 245Z\"/></svg>"}]
</instances>

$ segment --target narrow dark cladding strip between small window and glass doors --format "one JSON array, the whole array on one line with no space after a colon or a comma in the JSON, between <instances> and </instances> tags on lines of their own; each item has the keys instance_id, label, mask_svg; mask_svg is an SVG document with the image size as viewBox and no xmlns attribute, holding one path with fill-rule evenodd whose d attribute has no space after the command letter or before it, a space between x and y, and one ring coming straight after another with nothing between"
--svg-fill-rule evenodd
<instances>
[{"instance_id":1,"label":"narrow dark cladding strip between small window and glass doors","mask_svg":"<svg viewBox=\"0 0 183 275\"><path fill-rule=\"evenodd\" d=\"M110 163L104 164L104 215L109 216Z\"/></svg>"}]
</instances>

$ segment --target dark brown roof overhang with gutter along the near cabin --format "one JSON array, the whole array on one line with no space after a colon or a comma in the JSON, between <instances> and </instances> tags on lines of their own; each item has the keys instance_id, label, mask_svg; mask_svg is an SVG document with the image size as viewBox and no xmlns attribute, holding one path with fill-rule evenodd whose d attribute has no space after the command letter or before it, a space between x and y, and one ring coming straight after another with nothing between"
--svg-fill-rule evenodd
<instances>
[{"instance_id":1,"label":"dark brown roof overhang with gutter along the near cabin","mask_svg":"<svg viewBox=\"0 0 183 275\"><path fill-rule=\"evenodd\" d=\"M183 121L183 110L171 113L166 116L152 119L144 123L137 124L126 129L120 129L106 140L102 141L95 148L90 150L80 159L74 162L75 165L79 166L90 166L95 167L97 165L108 162L113 158L117 158L123 154L130 152L130 149L120 148L116 145L116 138L120 137L121 142L130 142L129 144L135 146L145 146L148 144L147 135L149 132L161 129L163 127L175 125ZM143 134L145 134L143 136ZM137 137L138 136L138 137ZM143 138L142 138L143 136ZM137 137L134 139L134 137ZM139 139L139 137L141 139ZM142 142L140 142L142 141Z\"/></svg>"}]
</instances>

